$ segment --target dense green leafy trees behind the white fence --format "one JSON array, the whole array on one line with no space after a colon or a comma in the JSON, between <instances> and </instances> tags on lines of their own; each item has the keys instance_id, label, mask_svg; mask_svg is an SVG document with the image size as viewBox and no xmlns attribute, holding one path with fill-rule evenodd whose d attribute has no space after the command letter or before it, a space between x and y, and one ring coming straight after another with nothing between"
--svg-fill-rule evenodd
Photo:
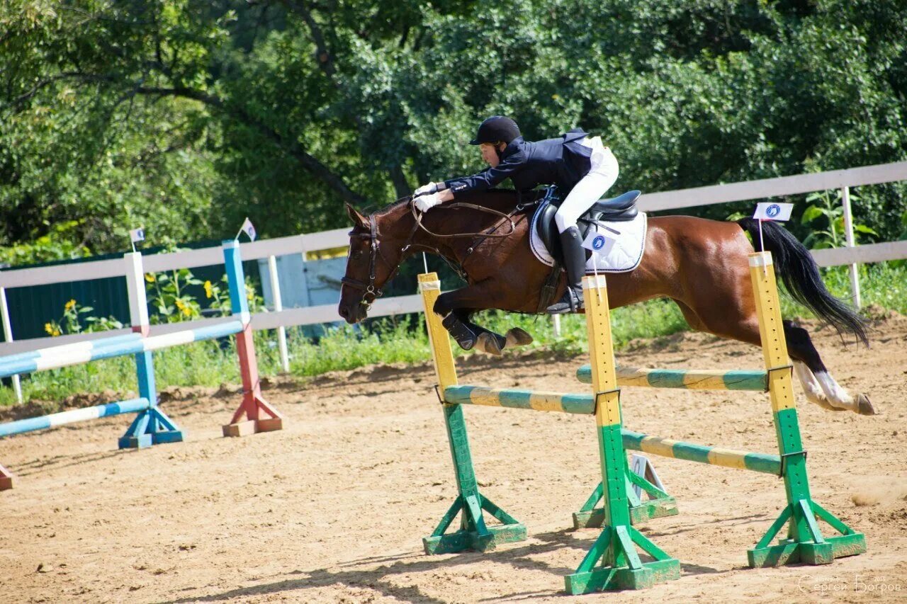
<instances>
[{"instance_id":1,"label":"dense green leafy trees behind the white fence","mask_svg":"<svg viewBox=\"0 0 907 604\"><path fill-rule=\"evenodd\" d=\"M340 227L480 170L495 113L601 133L616 189L899 161L905 31L872 0L7 0L0 245ZM856 212L894 239L905 206L894 184Z\"/></svg>"}]
</instances>

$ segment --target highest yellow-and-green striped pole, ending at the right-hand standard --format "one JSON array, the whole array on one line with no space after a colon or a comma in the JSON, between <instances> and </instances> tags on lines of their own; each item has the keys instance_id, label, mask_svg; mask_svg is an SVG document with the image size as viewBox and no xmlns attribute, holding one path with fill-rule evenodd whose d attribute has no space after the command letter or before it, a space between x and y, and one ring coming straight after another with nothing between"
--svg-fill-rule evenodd
<instances>
[{"instance_id":1,"label":"highest yellow-and-green striped pole, ending at the right-hand standard","mask_svg":"<svg viewBox=\"0 0 907 604\"><path fill-rule=\"evenodd\" d=\"M619 385L687 390L768 390L766 372L761 370L640 369L618 366L617 371ZM590 365L577 369L576 377L583 384L591 384Z\"/></svg>"}]
</instances>

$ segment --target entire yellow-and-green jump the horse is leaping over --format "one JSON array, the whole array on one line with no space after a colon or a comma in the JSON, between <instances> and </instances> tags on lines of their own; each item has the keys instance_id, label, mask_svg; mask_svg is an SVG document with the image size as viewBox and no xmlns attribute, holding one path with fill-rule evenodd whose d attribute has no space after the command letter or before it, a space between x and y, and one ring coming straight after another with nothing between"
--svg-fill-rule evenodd
<instances>
[{"instance_id":1,"label":"entire yellow-and-green jump the horse is leaping over","mask_svg":"<svg viewBox=\"0 0 907 604\"><path fill-rule=\"evenodd\" d=\"M425 305L425 318L434 355L438 379L438 396L442 402L447 434L457 480L458 496L444 514L431 536L424 539L426 553L450 553L462 550L489 550L499 543L522 541L525 527L488 501L479 492L473 471L469 442L463 423L463 404L502 406L534 411L568 414L594 414L599 436L601 479L583 510L574 514L574 523L602 526L599 538L580 563L565 577L571 594L605 589L641 589L664 580L678 579L678 560L671 558L632 526L634 493L629 488L639 484L653 497L653 502L635 502L638 510L652 504L639 518L671 513L673 498L649 482L629 472L626 450L674 457L697 463L780 475L785 481L787 504L756 547L748 550L753 568L779 566L795 562L828 564L835 558L863 553L863 534L856 533L812 500L806 476L806 453L800 438L794 395L791 387L791 365L788 365L781 312L778 305L775 272L771 254L751 254L750 276L756 293L756 310L766 361L765 371L676 371L617 367L614 364L610 335L610 313L604 276L583 279L586 299L586 323L589 332L590 365L580 368L581 381L592 385L591 394L563 395L517 389L458 385L447 332L440 317L432 312L440 294L435 273L419 276ZM445 344L446 343L446 344ZM688 389L725 389L767 391L771 398L778 455L750 453L722 447L683 443L625 430L620 424L618 385L646 385ZM598 500L603 506L596 510ZM500 525L488 526L483 518L488 511ZM673 508L676 513L676 507ZM460 514L460 527L447 529ZM825 537L817 519L826 521L841 534ZM785 538L772 545L787 525ZM642 562L637 547L653 561Z\"/></svg>"}]
</instances>

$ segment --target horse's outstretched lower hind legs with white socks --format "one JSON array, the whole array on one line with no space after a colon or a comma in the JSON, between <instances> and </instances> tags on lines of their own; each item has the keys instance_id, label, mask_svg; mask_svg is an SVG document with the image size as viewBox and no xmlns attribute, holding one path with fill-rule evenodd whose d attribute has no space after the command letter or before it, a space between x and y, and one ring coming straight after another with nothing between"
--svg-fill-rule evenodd
<instances>
[{"instance_id":1,"label":"horse's outstretched lower hind legs with white socks","mask_svg":"<svg viewBox=\"0 0 907 604\"><path fill-rule=\"evenodd\" d=\"M826 409L835 411L853 411L861 415L874 415L875 409L869 397L857 393L856 398L850 395L828 373L819 352L813 346L813 340L803 327L793 321L784 321L787 350L794 359L797 377L803 384L806 398ZM819 393L816 393L816 389ZM824 396L822 396L824 395Z\"/></svg>"}]
</instances>

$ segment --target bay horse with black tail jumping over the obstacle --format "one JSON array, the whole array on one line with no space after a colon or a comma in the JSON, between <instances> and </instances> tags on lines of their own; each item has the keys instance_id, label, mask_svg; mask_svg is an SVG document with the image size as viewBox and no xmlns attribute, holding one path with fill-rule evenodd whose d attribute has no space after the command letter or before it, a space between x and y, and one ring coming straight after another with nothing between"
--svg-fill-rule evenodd
<instances>
[{"instance_id":1,"label":"bay horse with black tail jumping over the obstacle","mask_svg":"<svg viewBox=\"0 0 907 604\"><path fill-rule=\"evenodd\" d=\"M337 308L340 317L349 324L366 318L381 287L400 264L416 252L427 251L457 268L467 283L441 294L434 305L434 312L445 317L444 326L461 346L500 355L504 347L532 342L522 329L500 336L471 320L473 313L485 309L539 311L551 268L532 253L532 209L524 204L532 205L526 203L525 194L513 190L465 195L425 213L414 209L412 198L368 215L346 204L354 226ZM754 244L746 232L758 247L755 219L649 218L639 267L608 275L610 307L667 297L693 329L760 346L747 259ZM809 250L775 222L764 222L763 234L775 273L787 292L824 324L842 336L851 333L868 346L863 319L828 292ZM561 275L555 299L564 287L566 278ZM805 328L790 320L783 325L788 353L809 401L834 411L875 414L868 396L850 395L829 374ZM464 341L463 334L475 337Z\"/></svg>"}]
</instances>

